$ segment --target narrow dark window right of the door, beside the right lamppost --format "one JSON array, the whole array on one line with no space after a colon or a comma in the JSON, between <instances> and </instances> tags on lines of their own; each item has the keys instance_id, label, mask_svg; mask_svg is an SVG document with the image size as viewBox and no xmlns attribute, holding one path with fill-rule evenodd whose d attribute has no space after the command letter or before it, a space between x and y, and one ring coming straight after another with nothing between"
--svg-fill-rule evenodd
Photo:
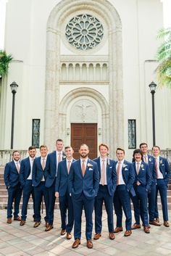
<instances>
[{"instance_id":1,"label":"narrow dark window right of the door, beside the right lamppost","mask_svg":"<svg viewBox=\"0 0 171 256\"><path fill-rule=\"evenodd\" d=\"M136 148L136 120L128 120L128 149Z\"/></svg>"}]
</instances>

